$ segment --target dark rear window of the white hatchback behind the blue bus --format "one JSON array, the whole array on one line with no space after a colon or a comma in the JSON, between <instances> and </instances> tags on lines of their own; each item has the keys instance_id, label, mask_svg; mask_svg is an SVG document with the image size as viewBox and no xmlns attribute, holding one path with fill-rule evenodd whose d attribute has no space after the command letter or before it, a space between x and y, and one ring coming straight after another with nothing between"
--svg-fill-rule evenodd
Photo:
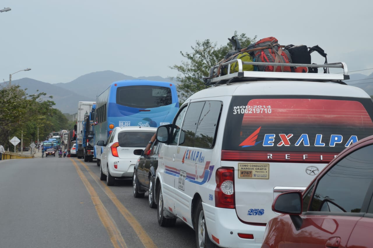
<instances>
[{"instance_id":1,"label":"dark rear window of the white hatchback behind the blue bus","mask_svg":"<svg viewBox=\"0 0 373 248\"><path fill-rule=\"evenodd\" d=\"M120 147L146 147L151 137L151 132L119 132L118 142Z\"/></svg>"}]
</instances>

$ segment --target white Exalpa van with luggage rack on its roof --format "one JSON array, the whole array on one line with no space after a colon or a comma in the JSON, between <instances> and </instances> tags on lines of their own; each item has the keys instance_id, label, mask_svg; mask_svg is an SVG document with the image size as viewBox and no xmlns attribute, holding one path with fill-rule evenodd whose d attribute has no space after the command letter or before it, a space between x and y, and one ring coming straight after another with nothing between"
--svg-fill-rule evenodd
<instances>
[{"instance_id":1,"label":"white Exalpa van with luggage rack on its roof","mask_svg":"<svg viewBox=\"0 0 373 248\"><path fill-rule=\"evenodd\" d=\"M159 225L179 218L194 228L197 247L260 247L274 198L304 190L373 134L372 99L345 85L347 67L336 65L343 74L241 69L189 97L157 129Z\"/></svg>"}]
</instances>

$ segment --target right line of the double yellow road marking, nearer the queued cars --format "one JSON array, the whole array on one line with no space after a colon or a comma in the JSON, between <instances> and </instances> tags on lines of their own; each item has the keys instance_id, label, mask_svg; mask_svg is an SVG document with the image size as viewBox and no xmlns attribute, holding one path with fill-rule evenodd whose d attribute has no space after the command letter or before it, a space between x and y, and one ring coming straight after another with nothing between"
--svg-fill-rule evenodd
<instances>
[{"instance_id":1,"label":"right line of the double yellow road marking, nearer the queued cars","mask_svg":"<svg viewBox=\"0 0 373 248\"><path fill-rule=\"evenodd\" d=\"M136 220L136 218L128 211L128 209L123 206L123 204L118 200L116 195L113 193L113 191L105 184L103 183L98 176L96 176L91 169L82 161L79 160L79 162L87 169L88 173L90 173L91 177L102 186L102 189L104 190L105 194L110 198L110 200L113 201L114 205L118 208L120 213L125 217L129 225L132 226L134 231L136 232L137 236L140 238L142 244L145 248L156 248L157 246L154 244L153 240L149 237L147 232L142 228L141 224Z\"/></svg>"}]
</instances>

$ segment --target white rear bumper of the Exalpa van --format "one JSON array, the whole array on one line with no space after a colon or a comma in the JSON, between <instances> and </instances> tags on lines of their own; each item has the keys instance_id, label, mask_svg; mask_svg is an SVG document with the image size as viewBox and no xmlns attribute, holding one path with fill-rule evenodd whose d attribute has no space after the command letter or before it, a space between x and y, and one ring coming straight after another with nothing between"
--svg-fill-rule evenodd
<instances>
[{"instance_id":1,"label":"white rear bumper of the Exalpa van","mask_svg":"<svg viewBox=\"0 0 373 248\"><path fill-rule=\"evenodd\" d=\"M202 203L202 205L209 238L215 244L227 248L261 247L265 226L242 223L238 219L235 209L217 208L206 203ZM252 234L254 239L240 238L238 233ZM214 235L219 244L214 241L211 235Z\"/></svg>"}]
</instances>

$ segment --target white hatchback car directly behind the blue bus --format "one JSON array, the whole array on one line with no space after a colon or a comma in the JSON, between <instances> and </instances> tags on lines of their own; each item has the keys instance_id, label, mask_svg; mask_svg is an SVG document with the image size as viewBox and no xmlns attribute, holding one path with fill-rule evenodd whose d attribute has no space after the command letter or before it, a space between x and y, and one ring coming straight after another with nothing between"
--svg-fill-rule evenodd
<instances>
[{"instance_id":1,"label":"white hatchback car directly behind the blue bus","mask_svg":"<svg viewBox=\"0 0 373 248\"><path fill-rule=\"evenodd\" d=\"M100 160L100 179L107 185L114 185L114 179L130 179L139 156L135 149L145 149L157 128L143 126L116 127L106 144L98 141L97 145L105 146Z\"/></svg>"}]
</instances>

